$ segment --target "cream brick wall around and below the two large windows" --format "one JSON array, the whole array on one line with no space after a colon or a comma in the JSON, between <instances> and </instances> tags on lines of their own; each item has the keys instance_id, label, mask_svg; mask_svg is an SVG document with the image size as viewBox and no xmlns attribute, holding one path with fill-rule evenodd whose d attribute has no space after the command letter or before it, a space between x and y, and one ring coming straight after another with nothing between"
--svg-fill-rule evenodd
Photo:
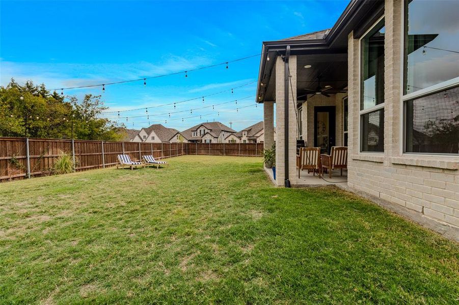
<instances>
[{"instance_id":1,"label":"cream brick wall around and below the two large windows","mask_svg":"<svg viewBox=\"0 0 459 305\"><path fill-rule=\"evenodd\" d=\"M459 240L458 158L402 154L401 12L386 1L384 154L359 152L359 40L348 37L348 188Z\"/></svg>"}]
</instances>

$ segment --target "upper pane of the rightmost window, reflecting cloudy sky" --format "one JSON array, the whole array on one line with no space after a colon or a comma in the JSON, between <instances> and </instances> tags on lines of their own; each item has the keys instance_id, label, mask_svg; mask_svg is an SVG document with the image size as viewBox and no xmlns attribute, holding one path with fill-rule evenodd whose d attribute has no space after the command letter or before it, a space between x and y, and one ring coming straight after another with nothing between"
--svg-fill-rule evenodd
<instances>
[{"instance_id":1,"label":"upper pane of the rightmost window, reflecting cloudy sky","mask_svg":"<svg viewBox=\"0 0 459 305\"><path fill-rule=\"evenodd\" d=\"M406 1L404 94L459 76L459 1Z\"/></svg>"}]
</instances>

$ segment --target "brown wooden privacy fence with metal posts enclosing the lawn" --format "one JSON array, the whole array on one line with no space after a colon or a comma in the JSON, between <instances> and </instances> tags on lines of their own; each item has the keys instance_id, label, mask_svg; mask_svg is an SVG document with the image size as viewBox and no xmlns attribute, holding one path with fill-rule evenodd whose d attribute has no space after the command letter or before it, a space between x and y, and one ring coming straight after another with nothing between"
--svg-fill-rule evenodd
<instances>
[{"instance_id":1,"label":"brown wooden privacy fence with metal posts enclosing the lawn","mask_svg":"<svg viewBox=\"0 0 459 305\"><path fill-rule=\"evenodd\" d=\"M117 155L141 160L182 155L261 156L262 143L140 143L0 137L0 181L51 173L61 151L72 156L76 171L117 163Z\"/></svg>"}]
</instances>

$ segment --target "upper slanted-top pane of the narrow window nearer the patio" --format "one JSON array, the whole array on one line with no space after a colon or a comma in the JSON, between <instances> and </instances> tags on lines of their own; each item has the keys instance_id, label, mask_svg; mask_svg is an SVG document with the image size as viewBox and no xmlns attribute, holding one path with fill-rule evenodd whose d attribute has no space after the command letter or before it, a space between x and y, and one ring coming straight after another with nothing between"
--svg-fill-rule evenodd
<instances>
[{"instance_id":1,"label":"upper slanted-top pane of the narrow window nearer the patio","mask_svg":"<svg viewBox=\"0 0 459 305\"><path fill-rule=\"evenodd\" d=\"M384 19L362 39L360 109L384 103Z\"/></svg>"}]
</instances>

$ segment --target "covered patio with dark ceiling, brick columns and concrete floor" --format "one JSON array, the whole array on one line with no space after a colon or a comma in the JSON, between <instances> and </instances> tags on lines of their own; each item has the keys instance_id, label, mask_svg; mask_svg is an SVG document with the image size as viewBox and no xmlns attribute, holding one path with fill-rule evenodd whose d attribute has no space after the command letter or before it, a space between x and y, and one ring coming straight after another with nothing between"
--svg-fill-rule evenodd
<instances>
[{"instance_id":1,"label":"covered patio with dark ceiling, brick columns and concrete floor","mask_svg":"<svg viewBox=\"0 0 459 305\"><path fill-rule=\"evenodd\" d=\"M327 45L324 37L330 31L263 43L257 102L264 106L264 148L274 143L272 126L277 129L276 180L272 177L277 186L347 180L347 170L321 178L307 170L299 177L297 168L301 146L319 147L321 155L330 155L333 146L347 146L347 40ZM319 167L322 171L320 161Z\"/></svg>"}]
</instances>

